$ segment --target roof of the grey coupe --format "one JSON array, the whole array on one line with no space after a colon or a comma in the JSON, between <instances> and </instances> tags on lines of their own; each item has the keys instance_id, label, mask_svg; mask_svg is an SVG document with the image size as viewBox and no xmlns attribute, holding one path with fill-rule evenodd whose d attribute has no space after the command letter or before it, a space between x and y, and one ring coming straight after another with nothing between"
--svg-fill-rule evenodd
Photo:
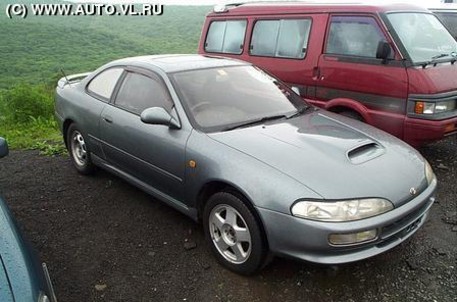
<instances>
[{"instance_id":1,"label":"roof of the grey coupe","mask_svg":"<svg viewBox=\"0 0 457 302\"><path fill-rule=\"evenodd\" d=\"M129 65L143 68L156 67L166 73L188 71L195 69L251 65L248 62L206 55L151 55L120 59L112 62L114 65ZM110 64L111 65L111 64Z\"/></svg>"}]
</instances>

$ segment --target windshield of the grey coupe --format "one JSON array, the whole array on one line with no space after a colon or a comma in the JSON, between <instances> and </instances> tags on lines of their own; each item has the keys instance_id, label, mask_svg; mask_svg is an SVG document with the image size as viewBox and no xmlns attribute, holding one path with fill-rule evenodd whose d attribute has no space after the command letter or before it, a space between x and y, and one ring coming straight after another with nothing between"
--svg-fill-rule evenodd
<instances>
[{"instance_id":1,"label":"windshield of the grey coupe","mask_svg":"<svg viewBox=\"0 0 457 302\"><path fill-rule=\"evenodd\" d=\"M191 121L203 131L280 119L307 106L284 84L253 66L179 72L172 80Z\"/></svg>"}]
</instances>

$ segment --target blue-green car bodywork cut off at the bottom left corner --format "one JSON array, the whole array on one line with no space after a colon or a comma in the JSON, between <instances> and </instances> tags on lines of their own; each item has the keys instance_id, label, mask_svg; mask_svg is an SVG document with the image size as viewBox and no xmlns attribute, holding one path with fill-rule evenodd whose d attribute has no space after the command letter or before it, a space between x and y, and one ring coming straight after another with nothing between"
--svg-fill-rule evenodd
<instances>
[{"instance_id":1,"label":"blue-green car bodywork cut off at the bottom left corner","mask_svg":"<svg viewBox=\"0 0 457 302\"><path fill-rule=\"evenodd\" d=\"M36 263L1 197L0 234L0 301L36 301L40 284Z\"/></svg>"}]
</instances>

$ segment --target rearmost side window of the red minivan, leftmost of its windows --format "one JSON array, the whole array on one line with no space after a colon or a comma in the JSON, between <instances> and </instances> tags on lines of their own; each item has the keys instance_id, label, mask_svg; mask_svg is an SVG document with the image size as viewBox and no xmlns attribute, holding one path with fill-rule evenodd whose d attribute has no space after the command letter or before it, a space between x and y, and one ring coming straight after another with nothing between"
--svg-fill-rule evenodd
<instances>
[{"instance_id":1,"label":"rearmost side window of the red minivan, leftmost of its windows","mask_svg":"<svg viewBox=\"0 0 457 302\"><path fill-rule=\"evenodd\" d=\"M241 54L246 20L213 21L206 36L205 51Z\"/></svg>"}]
</instances>

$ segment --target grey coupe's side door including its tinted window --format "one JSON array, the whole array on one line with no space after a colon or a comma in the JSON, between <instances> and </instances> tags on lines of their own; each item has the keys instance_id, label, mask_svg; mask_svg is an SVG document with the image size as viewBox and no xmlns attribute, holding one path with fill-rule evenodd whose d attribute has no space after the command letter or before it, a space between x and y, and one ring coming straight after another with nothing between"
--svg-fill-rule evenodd
<instances>
[{"instance_id":1,"label":"grey coupe's side door including its tinted window","mask_svg":"<svg viewBox=\"0 0 457 302\"><path fill-rule=\"evenodd\" d=\"M174 110L166 85L154 73L127 69L114 100L101 115L103 151L107 161L122 173L183 200L190 131L143 123L140 114L150 107Z\"/></svg>"}]
</instances>

